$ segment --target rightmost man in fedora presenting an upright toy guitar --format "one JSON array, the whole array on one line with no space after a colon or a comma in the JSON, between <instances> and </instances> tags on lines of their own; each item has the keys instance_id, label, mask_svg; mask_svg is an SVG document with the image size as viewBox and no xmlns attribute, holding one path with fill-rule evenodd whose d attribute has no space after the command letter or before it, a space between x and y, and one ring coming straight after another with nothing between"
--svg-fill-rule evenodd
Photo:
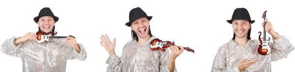
<instances>
[{"instance_id":1,"label":"rightmost man in fedora presenting an upright toy guitar","mask_svg":"<svg viewBox=\"0 0 295 72\"><path fill-rule=\"evenodd\" d=\"M286 58L294 50L287 37L276 33L266 18L265 30L273 38L273 42L268 44L271 53L259 54L260 41L250 38L251 24L255 20L251 20L245 8L236 8L232 19L227 22L233 26L234 37L217 51L211 72L271 72L271 61Z\"/></svg>"}]
</instances>

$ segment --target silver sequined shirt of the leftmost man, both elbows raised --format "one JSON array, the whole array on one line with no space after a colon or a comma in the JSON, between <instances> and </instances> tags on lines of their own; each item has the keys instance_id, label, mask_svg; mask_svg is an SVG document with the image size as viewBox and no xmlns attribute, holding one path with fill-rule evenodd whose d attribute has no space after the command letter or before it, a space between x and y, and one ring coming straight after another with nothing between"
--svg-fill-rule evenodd
<instances>
[{"instance_id":1,"label":"silver sequined shirt of the leftmost man, both elbows raised","mask_svg":"<svg viewBox=\"0 0 295 72\"><path fill-rule=\"evenodd\" d=\"M51 39L51 43L36 41L21 42L17 46L13 44L11 37L4 41L1 51L10 56L20 57L23 61L23 72L66 72L67 59L85 60L87 53L82 44L78 53L69 44L65 43L65 38Z\"/></svg>"}]
</instances>

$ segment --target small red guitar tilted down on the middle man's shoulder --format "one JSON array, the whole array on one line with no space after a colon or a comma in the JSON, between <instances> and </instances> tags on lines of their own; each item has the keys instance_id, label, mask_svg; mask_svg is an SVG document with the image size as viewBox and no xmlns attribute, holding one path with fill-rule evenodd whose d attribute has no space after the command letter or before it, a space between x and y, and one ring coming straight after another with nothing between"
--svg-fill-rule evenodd
<instances>
[{"instance_id":1,"label":"small red guitar tilted down on the middle man's shoulder","mask_svg":"<svg viewBox=\"0 0 295 72\"><path fill-rule=\"evenodd\" d=\"M160 40L158 38L155 38L150 42L149 48L150 48L151 51L161 50L162 52L165 52L166 51L165 49L170 47L171 45L175 46L174 41L173 42L171 42L171 41L162 41L162 40ZM193 49L189 48L189 47L183 47L183 48L184 48L184 50L186 50L188 52L195 53L195 51Z\"/></svg>"}]
</instances>

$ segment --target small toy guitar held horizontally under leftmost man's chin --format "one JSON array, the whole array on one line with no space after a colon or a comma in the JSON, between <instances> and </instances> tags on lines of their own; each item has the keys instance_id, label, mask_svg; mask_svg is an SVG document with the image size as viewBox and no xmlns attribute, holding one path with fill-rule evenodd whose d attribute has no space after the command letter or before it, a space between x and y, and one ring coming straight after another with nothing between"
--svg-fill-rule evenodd
<instances>
[{"instance_id":1,"label":"small toy guitar held horizontally under leftmost man's chin","mask_svg":"<svg viewBox=\"0 0 295 72\"><path fill-rule=\"evenodd\" d=\"M42 43L42 42L51 42L51 41L49 41L49 39L51 39L51 38L66 38L66 37L73 37L73 38L75 38L75 36L54 36L54 35L56 35L57 34L57 32L56 33L53 33L53 32L50 32L50 33L47 33L47 34L45 34L45 33L43 33L43 32L41 32L41 31L38 31L37 33L36 33L36 35L37 35L37 43Z\"/></svg>"}]
</instances>

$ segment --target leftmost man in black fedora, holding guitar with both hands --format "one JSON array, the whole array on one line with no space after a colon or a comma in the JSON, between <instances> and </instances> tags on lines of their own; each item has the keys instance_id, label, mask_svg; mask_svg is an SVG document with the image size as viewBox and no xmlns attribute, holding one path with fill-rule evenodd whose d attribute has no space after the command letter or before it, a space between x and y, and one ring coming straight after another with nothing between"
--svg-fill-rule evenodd
<instances>
[{"instance_id":1,"label":"leftmost man in black fedora, holding guitar with both hands","mask_svg":"<svg viewBox=\"0 0 295 72\"><path fill-rule=\"evenodd\" d=\"M59 20L51 9L40 10L34 21L43 33L54 32L55 23ZM2 44L2 52L22 58L23 72L66 72L67 59L85 60L87 53L81 43L73 37L54 38L51 42L36 42L37 35L29 32L22 37L11 37Z\"/></svg>"}]
</instances>

